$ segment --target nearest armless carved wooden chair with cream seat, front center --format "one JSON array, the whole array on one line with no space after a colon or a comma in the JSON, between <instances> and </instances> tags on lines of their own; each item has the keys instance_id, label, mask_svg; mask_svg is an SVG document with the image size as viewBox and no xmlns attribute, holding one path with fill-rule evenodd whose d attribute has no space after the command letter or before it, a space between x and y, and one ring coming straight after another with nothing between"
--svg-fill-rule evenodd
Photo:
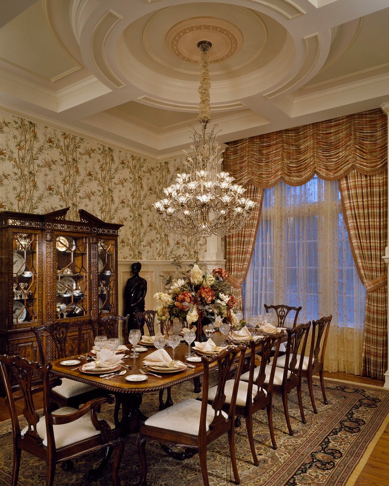
<instances>
[{"instance_id":1,"label":"nearest armless carved wooden chair with cream seat, front center","mask_svg":"<svg viewBox=\"0 0 389 486\"><path fill-rule=\"evenodd\" d=\"M242 372L246 345L230 346L218 354L202 356L204 367L202 399L183 400L164 410L154 413L140 426L137 440L141 476L137 486L146 486L147 459L146 442L160 442L163 449L176 459L191 458L199 455L204 486L209 486L207 472L207 446L224 434L228 436L229 452L235 483L239 484L239 473L235 456L234 419L235 403L239 377ZM224 388L231 368L240 353L235 373L231 403L228 412L223 410L225 403ZM212 404L208 403L209 374L217 372L218 384ZM173 453L171 447L184 447L185 452Z\"/></svg>"}]
</instances>

